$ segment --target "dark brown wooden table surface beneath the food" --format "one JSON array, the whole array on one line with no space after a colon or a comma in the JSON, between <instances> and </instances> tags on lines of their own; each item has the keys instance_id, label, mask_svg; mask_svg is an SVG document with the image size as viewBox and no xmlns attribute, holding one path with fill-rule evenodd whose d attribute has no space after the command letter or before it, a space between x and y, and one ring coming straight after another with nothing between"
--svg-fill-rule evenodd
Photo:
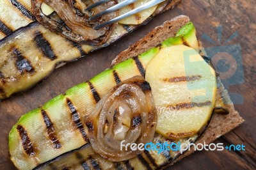
<instances>
[{"instance_id":1,"label":"dark brown wooden table surface beneath the food","mask_svg":"<svg viewBox=\"0 0 256 170\"><path fill-rule=\"evenodd\" d=\"M197 151L172 166L172 169L256 169L256 7L255 0L250 1L189 1L184 0L177 8L169 10L147 26L125 36L121 41L109 47L88 54L85 58L58 68L52 75L35 88L13 95L0 103L0 169L15 169L8 157L8 133L22 114L40 107L56 95L64 93L68 88L87 81L102 72L111 64L122 50L136 42L151 29L161 25L165 20L184 14L188 15L196 26L198 37L204 47L223 45L232 33L238 33L233 40L225 45L241 46L244 82L229 86L228 91L243 95L243 104L235 107L244 118L244 123L214 143L244 144L246 151ZM216 27L222 26L222 42L218 42ZM202 39L207 34L216 42L212 44ZM233 63L229 63L230 66ZM241 77L238 77L240 79Z\"/></svg>"}]
</instances>

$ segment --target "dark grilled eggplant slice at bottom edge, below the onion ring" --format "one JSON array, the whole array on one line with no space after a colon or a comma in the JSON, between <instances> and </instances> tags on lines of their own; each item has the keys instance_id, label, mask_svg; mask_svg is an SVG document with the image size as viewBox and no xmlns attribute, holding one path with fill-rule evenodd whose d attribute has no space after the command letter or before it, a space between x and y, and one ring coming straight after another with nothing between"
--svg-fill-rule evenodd
<instances>
[{"instance_id":1,"label":"dark grilled eggplant slice at bottom edge, below the onion ring","mask_svg":"<svg viewBox=\"0 0 256 170\"><path fill-rule=\"evenodd\" d=\"M180 140L180 143L194 143L198 135ZM152 143L172 143L163 136L156 134ZM179 151L143 151L137 157L125 160L122 162L110 162L99 154L95 153L90 146L86 143L81 148L69 151L49 160L44 164L36 166L34 169L161 169L166 164L172 162L180 155Z\"/></svg>"}]
</instances>

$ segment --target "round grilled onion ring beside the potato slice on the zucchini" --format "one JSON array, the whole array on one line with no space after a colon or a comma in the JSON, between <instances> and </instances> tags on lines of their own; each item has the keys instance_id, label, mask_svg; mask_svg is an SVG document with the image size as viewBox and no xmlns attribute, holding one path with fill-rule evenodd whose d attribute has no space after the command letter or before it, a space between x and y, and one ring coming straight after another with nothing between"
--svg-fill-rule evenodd
<instances>
[{"instance_id":1,"label":"round grilled onion ring beside the potato slice on the zucchini","mask_svg":"<svg viewBox=\"0 0 256 170\"><path fill-rule=\"evenodd\" d=\"M85 122L92 148L103 158L118 162L136 157L141 150L121 150L120 143L152 141L157 113L150 85L141 76L122 82L97 103Z\"/></svg>"}]
</instances>

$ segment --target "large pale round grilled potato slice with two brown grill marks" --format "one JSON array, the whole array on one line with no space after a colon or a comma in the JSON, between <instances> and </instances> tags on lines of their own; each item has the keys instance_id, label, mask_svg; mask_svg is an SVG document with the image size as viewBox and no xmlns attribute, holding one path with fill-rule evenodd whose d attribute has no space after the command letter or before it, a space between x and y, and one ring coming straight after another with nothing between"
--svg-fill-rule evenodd
<instances>
[{"instance_id":1,"label":"large pale round grilled potato slice with two brown grill marks","mask_svg":"<svg viewBox=\"0 0 256 170\"><path fill-rule=\"evenodd\" d=\"M159 50L148 63L146 80L158 111L159 134L179 139L202 130L214 109L216 75L195 49L174 45Z\"/></svg>"}]
</instances>

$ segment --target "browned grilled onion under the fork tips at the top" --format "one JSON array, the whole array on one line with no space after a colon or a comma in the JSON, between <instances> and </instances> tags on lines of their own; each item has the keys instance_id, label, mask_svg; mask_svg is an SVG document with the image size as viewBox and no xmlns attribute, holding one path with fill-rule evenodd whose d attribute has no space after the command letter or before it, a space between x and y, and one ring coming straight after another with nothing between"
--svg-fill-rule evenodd
<instances>
[{"instance_id":1,"label":"browned grilled onion under the fork tips at the top","mask_svg":"<svg viewBox=\"0 0 256 170\"><path fill-rule=\"evenodd\" d=\"M92 3L97 0L92 1ZM57 22L54 19L44 15L41 10L42 3L51 6L58 14L63 23ZM95 30L93 26L112 19L117 15L117 12L110 13L97 20L90 21L89 13L84 12L81 6L82 2L76 3L76 0L31 0L32 12L36 20L44 25L52 32L65 36L69 40L78 43L89 43L90 45L100 45L108 40L115 24ZM116 4L116 1L109 1L108 3L92 10L92 13L99 13ZM86 6L86 4L84 4ZM83 11L81 11L81 9ZM92 15L91 13L91 15Z\"/></svg>"}]
</instances>

